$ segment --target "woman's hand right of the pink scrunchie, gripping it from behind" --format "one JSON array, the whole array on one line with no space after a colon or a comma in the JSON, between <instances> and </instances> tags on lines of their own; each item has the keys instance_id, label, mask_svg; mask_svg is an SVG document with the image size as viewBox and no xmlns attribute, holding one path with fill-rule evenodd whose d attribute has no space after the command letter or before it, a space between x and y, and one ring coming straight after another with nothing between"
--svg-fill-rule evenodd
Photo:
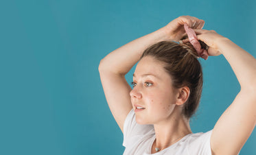
<instances>
[{"instance_id":1,"label":"woman's hand right of the pink scrunchie, gripping it from behind","mask_svg":"<svg viewBox=\"0 0 256 155\"><path fill-rule=\"evenodd\" d=\"M207 29L193 29L196 32L196 37L198 40L204 42L209 48L207 52L209 56L220 56L221 51L218 48L218 43L223 39L226 39L224 36L217 34L214 30L207 30ZM183 43L189 42L189 38L182 40Z\"/></svg>"}]
</instances>

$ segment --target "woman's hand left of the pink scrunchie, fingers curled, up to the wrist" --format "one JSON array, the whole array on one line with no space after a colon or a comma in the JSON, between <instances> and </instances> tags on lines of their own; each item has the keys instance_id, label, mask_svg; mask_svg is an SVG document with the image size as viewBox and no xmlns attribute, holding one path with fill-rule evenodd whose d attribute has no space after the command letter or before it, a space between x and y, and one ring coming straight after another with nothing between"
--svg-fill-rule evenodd
<instances>
[{"instance_id":1,"label":"woman's hand left of the pink scrunchie, fingers curled, up to the wrist","mask_svg":"<svg viewBox=\"0 0 256 155\"><path fill-rule=\"evenodd\" d=\"M172 40L178 42L178 40L181 40L187 35L184 29L185 23L192 29L202 29L205 25L205 21L194 16L179 16L177 19L165 25L163 29L165 29L166 34L170 36Z\"/></svg>"}]
</instances>

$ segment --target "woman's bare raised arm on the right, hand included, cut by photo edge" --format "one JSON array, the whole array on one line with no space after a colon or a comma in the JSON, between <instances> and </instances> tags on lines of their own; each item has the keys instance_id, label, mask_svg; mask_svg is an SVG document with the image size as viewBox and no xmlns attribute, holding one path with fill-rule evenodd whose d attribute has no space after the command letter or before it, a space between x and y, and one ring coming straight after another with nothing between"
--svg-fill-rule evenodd
<instances>
[{"instance_id":1,"label":"woman's bare raised arm on the right, hand included, cut by photo edge","mask_svg":"<svg viewBox=\"0 0 256 155\"><path fill-rule=\"evenodd\" d=\"M211 135L212 154L238 154L256 125L256 59L213 30L195 32L211 48L209 56L223 54L240 83L240 92L218 119Z\"/></svg>"}]
</instances>

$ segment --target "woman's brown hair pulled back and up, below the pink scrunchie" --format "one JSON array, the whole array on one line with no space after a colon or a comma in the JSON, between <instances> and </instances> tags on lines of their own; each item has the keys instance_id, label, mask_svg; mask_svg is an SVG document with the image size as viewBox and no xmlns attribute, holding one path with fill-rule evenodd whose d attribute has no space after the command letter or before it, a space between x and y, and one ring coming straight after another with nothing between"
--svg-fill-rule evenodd
<instances>
[{"instance_id":1,"label":"woman's brown hair pulled back and up, below the pink scrunchie","mask_svg":"<svg viewBox=\"0 0 256 155\"><path fill-rule=\"evenodd\" d=\"M183 104L182 115L186 119L192 117L198 108L202 93L202 67L197 59L199 57L196 49L190 43L161 41L148 47L141 58L145 56L152 56L163 62L174 88L189 87L190 95Z\"/></svg>"}]
</instances>

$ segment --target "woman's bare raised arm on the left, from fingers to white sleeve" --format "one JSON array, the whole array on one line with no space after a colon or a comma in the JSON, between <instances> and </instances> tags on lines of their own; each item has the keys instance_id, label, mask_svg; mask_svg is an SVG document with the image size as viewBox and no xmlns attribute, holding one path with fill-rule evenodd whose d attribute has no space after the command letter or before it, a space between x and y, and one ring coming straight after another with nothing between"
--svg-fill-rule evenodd
<instances>
[{"instance_id":1,"label":"woman's bare raised arm on the left, from fingers to white sleeve","mask_svg":"<svg viewBox=\"0 0 256 155\"><path fill-rule=\"evenodd\" d=\"M143 51L163 40L180 40L184 34L184 23L201 29L204 21L192 16L180 16L165 27L119 47L100 61L100 79L110 111L123 132L124 121L132 109L130 88L125 75L139 61ZM183 30L181 30L183 29Z\"/></svg>"}]
</instances>

